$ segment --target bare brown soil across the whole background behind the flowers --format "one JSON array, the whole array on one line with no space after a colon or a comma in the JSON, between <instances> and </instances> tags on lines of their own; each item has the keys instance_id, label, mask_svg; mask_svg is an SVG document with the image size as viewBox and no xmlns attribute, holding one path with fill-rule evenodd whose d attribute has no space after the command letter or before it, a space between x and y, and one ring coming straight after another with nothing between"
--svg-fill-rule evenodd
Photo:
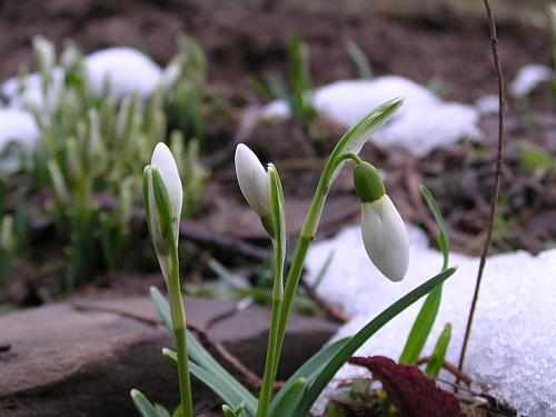
<instances>
[{"instance_id":1,"label":"bare brown soil across the whole background behind the flowers","mask_svg":"<svg viewBox=\"0 0 556 417\"><path fill-rule=\"evenodd\" d=\"M4 1L0 3L0 79L13 76L20 63L32 62L30 42L37 33L44 34L59 47L64 39L71 38L86 52L117 44L133 46L165 64L177 52L176 37L185 32L205 49L212 87L221 87L240 97L244 105L260 103L260 98L249 87L249 79L271 71L287 75L287 32L294 29L310 46L316 85L357 76L344 50L345 40L351 39L366 52L376 75L397 73L421 83L439 77L448 87L448 99L471 102L487 92L495 92L496 79L484 10L479 1L470 4L456 0L377 1L371 4L357 0L304 3L286 0L239 3L222 0ZM506 2L504 8L497 9L502 10L497 13L497 23L507 80L525 63L550 63L547 31L538 24L538 14L532 14L529 8L523 9L524 4L529 7L532 3ZM525 110L517 105L508 102L508 158L502 190L505 202L500 207L494 244L496 250L524 248L537 252L546 241L556 241L556 196L550 191L555 179L554 175L533 178L520 169L517 149L518 142L526 140L554 155L554 101L545 93L534 98ZM311 198L321 166L319 160L344 131L326 120L318 123L328 135L328 140L321 143L308 143L302 126L289 122L258 129L249 138L261 159L275 161L281 172L289 218L294 220L288 225L291 235L299 228ZM399 202L404 217L433 232L431 219L418 202L418 183L427 183L446 215L453 247L474 255L480 249L488 218L497 131L495 117L481 123L483 145L467 143L438 150L420 160L399 149L391 149L386 155L371 145L364 153L389 172L387 187ZM212 143L218 143L215 150L227 157L215 161L214 155L205 156L212 181L206 196L207 210L192 220L192 225L218 236L230 235L266 246L262 229L254 221L256 219L235 186L231 138L237 128L237 125L227 129L209 127ZM302 155L298 155L300 145ZM301 169L296 167L296 158L304 159ZM230 200L237 203L230 205ZM358 212L350 179L340 178L319 228L321 236L356 220ZM51 252L62 254L62 249L44 245L49 236L42 231L36 239L38 246L47 249L33 255L39 266L20 268L21 276L61 274L63 264ZM201 246L186 254L189 256L186 262L192 260L188 264L193 265L188 274L193 281L207 272L199 264L205 265L207 257L214 255L212 249ZM145 254L145 248L141 250ZM112 287L127 292L135 288L133 292L145 294L152 279L132 281L137 285L122 285L121 279L111 276L100 277L86 290ZM29 300L23 304L40 302L39 290L32 287L20 286L10 298L20 302Z\"/></svg>"}]
</instances>

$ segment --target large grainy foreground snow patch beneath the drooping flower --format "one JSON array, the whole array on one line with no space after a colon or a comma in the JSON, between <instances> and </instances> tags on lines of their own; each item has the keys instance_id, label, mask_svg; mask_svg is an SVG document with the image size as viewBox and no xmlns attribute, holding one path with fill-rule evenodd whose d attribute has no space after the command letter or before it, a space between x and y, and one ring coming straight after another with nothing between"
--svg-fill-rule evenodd
<instances>
[{"instance_id":1,"label":"large grainy foreground snow patch beneath the drooping flower","mask_svg":"<svg viewBox=\"0 0 556 417\"><path fill-rule=\"evenodd\" d=\"M373 266L361 240L360 228L350 227L309 250L307 280L314 282L329 254L334 259L318 292L339 305L351 320L336 338L353 335L370 318L406 292L438 272L441 255L428 248L427 238L414 226L409 270L393 284ZM433 351L444 325L451 322L453 338L447 359L457 364L471 301L478 259L453 254L457 272L444 286L439 315L425 355ZM556 416L556 249L534 257L525 251L489 257L465 371L484 384L497 398L507 400L525 416ZM396 317L375 335L358 355L385 355L397 359L421 301ZM345 366L337 378L361 375L361 368Z\"/></svg>"}]
</instances>

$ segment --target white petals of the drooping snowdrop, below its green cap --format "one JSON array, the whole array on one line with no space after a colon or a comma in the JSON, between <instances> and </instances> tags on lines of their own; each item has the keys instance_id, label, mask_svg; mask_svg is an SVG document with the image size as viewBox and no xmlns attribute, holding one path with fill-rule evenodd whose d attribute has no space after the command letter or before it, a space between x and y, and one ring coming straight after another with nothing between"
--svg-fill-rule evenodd
<instances>
[{"instance_id":1,"label":"white petals of the drooping snowdrop, below its green cap","mask_svg":"<svg viewBox=\"0 0 556 417\"><path fill-rule=\"evenodd\" d=\"M401 216L387 195L361 203L361 231L367 255L391 281L400 281L409 264L409 239Z\"/></svg>"}]
</instances>

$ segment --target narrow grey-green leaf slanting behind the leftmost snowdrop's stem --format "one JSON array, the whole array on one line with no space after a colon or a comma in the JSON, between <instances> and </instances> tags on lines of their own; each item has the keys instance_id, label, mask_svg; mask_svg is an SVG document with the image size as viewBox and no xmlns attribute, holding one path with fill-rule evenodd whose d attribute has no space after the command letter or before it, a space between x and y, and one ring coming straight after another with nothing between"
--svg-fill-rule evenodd
<instances>
[{"instance_id":1,"label":"narrow grey-green leaf slanting behind the leftmost snowdrop's stem","mask_svg":"<svg viewBox=\"0 0 556 417\"><path fill-rule=\"evenodd\" d=\"M156 287L150 288L150 296L155 307L157 308L165 326L170 332L172 332L172 324L170 318L170 307L168 301L160 294ZM231 389L236 390L238 395L245 400L246 409L249 415L255 415L257 410L257 398L246 388L241 383L239 383L234 376L231 376L228 370L226 370L208 351L205 347L197 340L197 338L191 335L189 330L186 330L187 347L189 359L195 363L203 370L212 375L212 379L218 379L225 385L228 385Z\"/></svg>"}]
</instances>

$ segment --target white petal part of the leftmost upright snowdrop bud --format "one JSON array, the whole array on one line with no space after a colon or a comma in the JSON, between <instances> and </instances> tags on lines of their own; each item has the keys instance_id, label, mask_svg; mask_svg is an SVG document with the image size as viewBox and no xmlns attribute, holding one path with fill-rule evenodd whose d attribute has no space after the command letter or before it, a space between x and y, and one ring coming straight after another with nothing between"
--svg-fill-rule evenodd
<instances>
[{"instance_id":1,"label":"white petal part of the leftmost upright snowdrop bud","mask_svg":"<svg viewBox=\"0 0 556 417\"><path fill-rule=\"evenodd\" d=\"M177 224L179 224L181 203L183 201L183 189L179 178L178 166L176 165L176 160L173 159L170 149L168 149L165 143L159 142L152 152L150 163L158 168L160 176L165 181L166 189L168 190L168 197L170 198L173 219Z\"/></svg>"}]
</instances>

